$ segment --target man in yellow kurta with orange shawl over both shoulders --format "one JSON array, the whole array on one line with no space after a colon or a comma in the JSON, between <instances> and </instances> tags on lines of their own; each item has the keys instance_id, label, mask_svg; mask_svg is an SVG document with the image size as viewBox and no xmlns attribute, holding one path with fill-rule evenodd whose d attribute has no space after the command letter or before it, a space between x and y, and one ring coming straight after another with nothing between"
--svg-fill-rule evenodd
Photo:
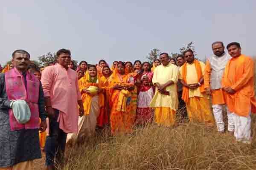
<instances>
[{"instance_id":1,"label":"man in yellow kurta with orange shawl over both shoulders","mask_svg":"<svg viewBox=\"0 0 256 170\"><path fill-rule=\"evenodd\" d=\"M195 59L192 50L183 53L186 63L180 67L180 82L183 84L182 99L191 122L205 122L213 125L209 96L204 92L203 62Z\"/></svg>"}]
</instances>

